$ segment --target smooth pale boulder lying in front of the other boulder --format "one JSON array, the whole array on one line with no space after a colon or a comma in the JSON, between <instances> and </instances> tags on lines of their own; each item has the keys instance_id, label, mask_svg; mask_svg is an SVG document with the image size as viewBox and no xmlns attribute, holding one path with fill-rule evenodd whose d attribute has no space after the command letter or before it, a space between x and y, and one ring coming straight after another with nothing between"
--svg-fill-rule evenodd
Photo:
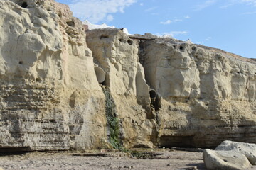
<instances>
[{"instance_id":1,"label":"smooth pale boulder lying in front of the other boulder","mask_svg":"<svg viewBox=\"0 0 256 170\"><path fill-rule=\"evenodd\" d=\"M244 154L234 150L221 151L205 149L203 162L207 169L248 169L251 164Z\"/></svg>"}]
</instances>

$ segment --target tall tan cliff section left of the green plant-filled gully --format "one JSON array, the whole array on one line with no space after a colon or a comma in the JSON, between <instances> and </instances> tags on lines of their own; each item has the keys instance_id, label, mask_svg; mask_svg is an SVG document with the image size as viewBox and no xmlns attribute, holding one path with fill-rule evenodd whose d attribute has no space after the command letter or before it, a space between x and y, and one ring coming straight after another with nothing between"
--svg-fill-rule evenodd
<instances>
[{"instance_id":1,"label":"tall tan cliff section left of the green plant-filled gully","mask_svg":"<svg viewBox=\"0 0 256 170\"><path fill-rule=\"evenodd\" d=\"M105 96L82 23L48 0L0 1L0 16L0 147L101 147Z\"/></svg>"}]
</instances>

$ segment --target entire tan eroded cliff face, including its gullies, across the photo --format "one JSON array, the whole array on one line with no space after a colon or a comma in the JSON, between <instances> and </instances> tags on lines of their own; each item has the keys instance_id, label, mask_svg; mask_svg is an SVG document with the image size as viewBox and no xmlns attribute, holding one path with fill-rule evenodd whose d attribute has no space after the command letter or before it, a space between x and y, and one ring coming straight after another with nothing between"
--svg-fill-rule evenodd
<instances>
[{"instance_id":1,"label":"entire tan eroded cliff face, including its gullies, across the photo","mask_svg":"<svg viewBox=\"0 0 256 170\"><path fill-rule=\"evenodd\" d=\"M51 0L0 1L0 23L1 148L256 142L255 60L112 28L85 33Z\"/></svg>"}]
</instances>

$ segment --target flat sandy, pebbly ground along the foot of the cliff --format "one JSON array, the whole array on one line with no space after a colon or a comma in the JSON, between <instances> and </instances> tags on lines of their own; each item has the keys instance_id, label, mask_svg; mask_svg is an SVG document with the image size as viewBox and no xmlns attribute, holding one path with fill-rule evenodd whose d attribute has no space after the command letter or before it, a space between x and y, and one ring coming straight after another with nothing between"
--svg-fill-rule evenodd
<instances>
[{"instance_id":1,"label":"flat sandy, pebbly ground along the foot of the cliff","mask_svg":"<svg viewBox=\"0 0 256 170\"><path fill-rule=\"evenodd\" d=\"M136 152L30 152L0 154L2 169L206 169L202 152L173 149Z\"/></svg>"}]
</instances>

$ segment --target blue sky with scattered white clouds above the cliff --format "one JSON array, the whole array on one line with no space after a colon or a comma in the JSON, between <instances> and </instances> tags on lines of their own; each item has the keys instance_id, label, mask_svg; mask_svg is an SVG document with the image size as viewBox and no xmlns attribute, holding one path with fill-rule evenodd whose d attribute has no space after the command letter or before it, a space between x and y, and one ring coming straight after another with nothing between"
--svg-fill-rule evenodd
<instances>
[{"instance_id":1,"label":"blue sky with scattered white clouds above the cliff","mask_svg":"<svg viewBox=\"0 0 256 170\"><path fill-rule=\"evenodd\" d=\"M256 0L57 0L91 23L179 40L256 58Z\"/></svg>"}]
</instances>

